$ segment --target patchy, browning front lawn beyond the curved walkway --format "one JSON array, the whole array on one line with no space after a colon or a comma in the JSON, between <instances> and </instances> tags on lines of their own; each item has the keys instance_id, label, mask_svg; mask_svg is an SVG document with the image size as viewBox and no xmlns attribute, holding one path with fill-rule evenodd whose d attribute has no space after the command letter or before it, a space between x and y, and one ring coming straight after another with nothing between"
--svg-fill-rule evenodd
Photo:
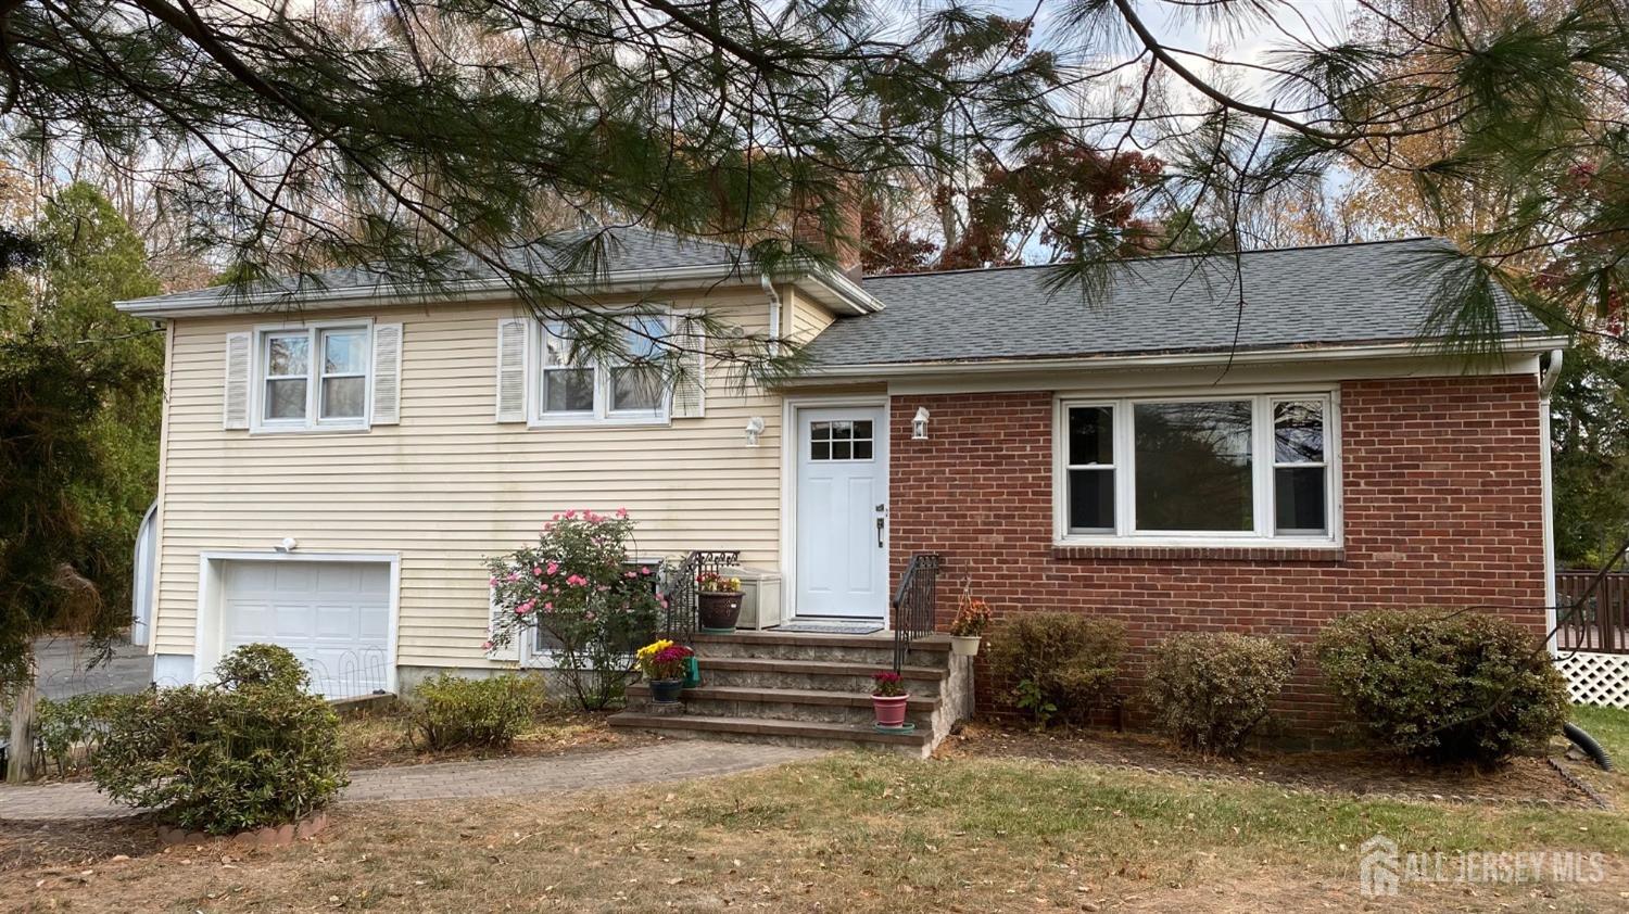
<instances>
[{"instance_id":1,"label":"patchy, browning front lawn beyond the curved walkway","mask_svg":"<svg viewBox=\"0 0 1629 914\"><path fill-rule=\"evenodd\" d=\"M696 751L707 751L704 743ZM1579 850L1605 880L1357 891L1357 847ZM140 826L0 826L23 911L1606 911L1629 818L1362 800L1087 762L839 754L683 785L340 805L316 841L156 852ZM129 859L116 859L125 855Z\"/></svg>"}]
</instances>

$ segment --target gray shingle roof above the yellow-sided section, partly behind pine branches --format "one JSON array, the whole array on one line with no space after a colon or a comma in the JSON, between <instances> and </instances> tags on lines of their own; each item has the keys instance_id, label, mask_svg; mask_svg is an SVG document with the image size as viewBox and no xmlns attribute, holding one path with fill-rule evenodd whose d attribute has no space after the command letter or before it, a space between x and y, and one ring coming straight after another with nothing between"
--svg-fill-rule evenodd
<instances>
[{"instance_id":1,"label":"gray shingle roof above the yellow-sided section, partly behind pine branches","mask_svg":"<svg viewBox=\"0 0 1629 914\"><path fill-rule=\"evenodd\" d=\"M604 244L598 249L590 244L595 236L603 236ZM595 261L590 251L598 251L601 257ZM746 262L748 253L741 248L705 239L684 239L665 231L653 231L639 226L617 226L603 230L562 231L526 246L503 248L494 257L510 269L529 275L546 277L554 274L619 274L634 270L661 270L676 267L709 267L736 266ZM238 290L239 295L280 295L280 293L321 293L345 292L362 288L378 288L397 285L402 280L422 277L404 277L386 274L376 267L342 267L323 270L305 277L267 280ZM490 264L461 253L446 267L441 267L435 279L438 282L482 282L498 280L502 274ZM220 298L225 301L231 292L222 288L171 292L142 298L143 305L160 305L165 301L192 301L199 298Z\"/></svg>"}]
</instances>

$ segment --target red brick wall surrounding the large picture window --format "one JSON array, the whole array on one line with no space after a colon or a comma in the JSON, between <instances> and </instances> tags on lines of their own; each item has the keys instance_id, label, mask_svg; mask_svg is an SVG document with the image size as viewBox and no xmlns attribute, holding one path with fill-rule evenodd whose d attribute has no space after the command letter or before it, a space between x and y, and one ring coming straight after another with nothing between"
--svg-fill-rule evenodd
<instances>
[{"instance_id":1,"label":"red brick wall surrounding the large picture window","mask_svg":"<svg viewBox=\"0 0 1629 914\"><path fill-rule=\"evenodd\" d=\"M911 417L922 406L930 437L917 442ZM940 627L968 575L997 626L1041 609L1124 619L1126 692L1135 691L1140 657L1179 631L1300 640L1373 606L1487 606L1544 631L1539 401L1530 375L1342 383L1339 552L1056 547L1052 409L1051 391L893 398L894 580L912 552L945 556ZM981 694L986 707L990 699ZM1329 723L1310 661L1276 710L1302 736Z\"/></svg>"}]
</instances>

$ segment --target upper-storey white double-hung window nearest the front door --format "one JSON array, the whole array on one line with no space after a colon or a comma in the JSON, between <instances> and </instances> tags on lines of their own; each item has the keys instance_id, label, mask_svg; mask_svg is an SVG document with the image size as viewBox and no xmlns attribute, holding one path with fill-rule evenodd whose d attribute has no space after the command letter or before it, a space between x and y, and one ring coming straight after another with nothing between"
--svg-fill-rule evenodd
<instances>
[{"instance_id":1,"label":"upper-storey white double-hung window nearest the front door","mask_svg":"<svg viewBox=\"0 0 1629 914\"><path fill-rule=\"evenodd\" d=\"M593 358L582 352L572 326L546 321L539 327L539 424L663 422L670 389L663 373L663 339L671 332L665 314L617 316L621 352Z\"/></svg>"}]
</instances>

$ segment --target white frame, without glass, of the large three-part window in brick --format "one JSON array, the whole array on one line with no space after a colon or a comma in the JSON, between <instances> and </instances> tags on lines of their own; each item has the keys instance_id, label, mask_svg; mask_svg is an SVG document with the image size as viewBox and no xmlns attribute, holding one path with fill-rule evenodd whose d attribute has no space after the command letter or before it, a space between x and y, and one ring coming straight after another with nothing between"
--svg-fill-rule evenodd
<instances>
[{"instance_id":1,"label":"white frame, without glass, of the large three-part window in brick","mask_svg":"<svg viewBox=\"0 0 1629 914\"><path fill-rule=\"evenodd\" d=\"M1251 521L1253 530L1137 530L1137 404L1217 402L1251 404ZM1272 407L1285 401L1318 401L1324 409L1324 534L1277 534L1274 510L1274 422ZM1113 407L1114 442L1114 531L1070 531L1069 528L1069 411L1072 407ZM1253 546L1276 549L1337 549L1342 541L1341 510L1341 402L1333 388L1259 391L1207 391L1204 394L1088 398L1059 396L1052 415L1052 539L1059 546ZM1078 464L1083 469L1088 464ZM1091 464L1108 466L1108 464ZM1308 464L1310 466L1310 464Z\"/></svg>"}]
</instances>

